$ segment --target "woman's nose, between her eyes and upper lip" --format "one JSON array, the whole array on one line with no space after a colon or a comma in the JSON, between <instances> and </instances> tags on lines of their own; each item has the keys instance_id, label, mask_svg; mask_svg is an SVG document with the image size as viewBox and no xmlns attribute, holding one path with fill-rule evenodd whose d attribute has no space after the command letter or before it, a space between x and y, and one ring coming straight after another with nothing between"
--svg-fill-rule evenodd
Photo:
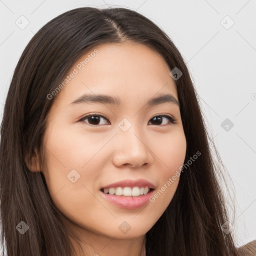
<instances>
[{"instance_id":1,"label":"woman's nose, between her eyes and upper lip","mask_svg":"<svg viewBox=\"0 0 256 256\"><path fill-rule=\"evenodd\" d=\"M146 135L132 125L127 131L119 129L114 140L113 164L140 167L153 162Z\"/></svg>"}]
</instances>

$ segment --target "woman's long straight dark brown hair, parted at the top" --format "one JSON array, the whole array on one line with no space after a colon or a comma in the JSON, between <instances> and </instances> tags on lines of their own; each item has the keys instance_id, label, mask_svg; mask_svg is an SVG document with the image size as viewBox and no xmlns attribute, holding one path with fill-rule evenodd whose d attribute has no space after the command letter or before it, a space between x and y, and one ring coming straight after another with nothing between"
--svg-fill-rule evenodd
<instances>
[{"instance_id":1,"label":"woman's long straight dark brown hair, parted at the top","mask_svg":"<svg viewBox=\"0 0 256 256\"><path fill-rule=\"evenodd\" d=\"M46 23L25 47L14 70L4 105L0 142L1 241L8 256L71 256L74 253L60 212L53 204L42 172L30 171L34 152L44 163L43 135L53 103L47 95L78 59L102 43L132 41L158 52L175 80L187 162L176 192L157 222L146 233L146 255L237 255L233 237L223 232L228 221L219 185L224 165L206 131L198 96L186 64L171 39L152 21L126 8L82 7L69 10ZM20 235L24 221L29 232Z\"/></svg>"}]
</instances>

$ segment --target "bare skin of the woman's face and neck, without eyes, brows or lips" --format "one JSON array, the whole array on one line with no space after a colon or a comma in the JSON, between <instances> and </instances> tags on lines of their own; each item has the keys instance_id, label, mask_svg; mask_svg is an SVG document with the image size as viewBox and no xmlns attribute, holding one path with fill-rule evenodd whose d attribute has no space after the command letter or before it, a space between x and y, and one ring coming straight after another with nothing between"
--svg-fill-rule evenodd
<instances>
[{"instance_id":1,"label":"bare skin of the woman's face and neck, without eyes, brows or lips","mask_svg":"<svg viewBox=\"0 0 256 256\"><path fill-rule=\"evenodd\" d=\"M145 233L170 203L179 177L154 202L138 209L113 205L99 189L123 179L144 178L157 191L183 164L186 140L178 105L145 105L162 93L178 101L175 81L164 59L145 45L123 42L96 48L98 53L51 99L44 134L47 168L33 170L43 172L73 244L75 235L87 255L140 256ZM116 96L120 105L70 104L83 93ZM94 126L91 119L79 121L90 113L107 119L99 117ZM176 123L166 117L153 122L152 117L162 114L173 116ZM123 118L131 123L125 132L118 127ZM67 178L72 169L80 175L74 183ZM126 233L118 228L123 221L131 227ZM83 255L77 247L76 255Z\"/></svg>"}]
</instances>

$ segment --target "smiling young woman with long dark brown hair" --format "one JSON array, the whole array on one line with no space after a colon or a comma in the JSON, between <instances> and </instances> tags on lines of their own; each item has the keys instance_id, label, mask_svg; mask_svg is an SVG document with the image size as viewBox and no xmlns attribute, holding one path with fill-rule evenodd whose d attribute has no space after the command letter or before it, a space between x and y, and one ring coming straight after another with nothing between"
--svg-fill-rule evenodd
<instances>
[{"instance_id":1,"label":"smiling young woman with long dark brown hair","mask_svg":"<svg viewBox=\"0 0 256 256\"><path fill-rule=\"evenodd\" d=\"M238 255L209 141L159 27L125 8L55 17L24 49L4 105L8 256Z\"/></svg>"}]
</instances>

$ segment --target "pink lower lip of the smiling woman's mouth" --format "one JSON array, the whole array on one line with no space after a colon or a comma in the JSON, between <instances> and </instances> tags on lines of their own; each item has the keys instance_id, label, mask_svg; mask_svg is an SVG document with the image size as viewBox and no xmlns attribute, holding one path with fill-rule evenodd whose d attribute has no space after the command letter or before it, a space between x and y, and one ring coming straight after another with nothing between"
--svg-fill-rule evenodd
<instances>
[{"instance_id":1,"label":"pink lower lip of the smiling woman's mouth","mask_svg":"<svg viewBox=\"0 0 256 256\"><path fill-rule=\"evenodd\" d=\"M143 194L139 196L112 195L112 194L105 194L102 191L100 191L100 193L105 199L107 199L111 203L121 208L137 209L148 203L149 197L152 195L153 190L148 192L147 194Z\"/></svg>"}]
</instances>

